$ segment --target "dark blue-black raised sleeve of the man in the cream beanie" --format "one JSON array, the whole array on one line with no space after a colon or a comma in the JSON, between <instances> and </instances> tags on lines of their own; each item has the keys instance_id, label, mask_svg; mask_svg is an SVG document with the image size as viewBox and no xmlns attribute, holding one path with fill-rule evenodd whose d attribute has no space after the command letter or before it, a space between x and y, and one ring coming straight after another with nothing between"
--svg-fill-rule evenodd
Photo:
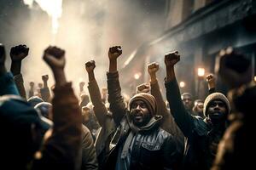
<instances>
[{"instance_id":1,"label":"dark blue-black raised sleeve of the man in the cream beanie","mask_svg":"<svg viewBox=\"0 0 256 170\"><path fill-rule=\"evenodd\" d=\"M184 136L188 137L194 128L193 116L184 108L177 80L166 82L166 98L170 104L170 110L177 126L182 130Z\"/></svg>"}]
</instances>

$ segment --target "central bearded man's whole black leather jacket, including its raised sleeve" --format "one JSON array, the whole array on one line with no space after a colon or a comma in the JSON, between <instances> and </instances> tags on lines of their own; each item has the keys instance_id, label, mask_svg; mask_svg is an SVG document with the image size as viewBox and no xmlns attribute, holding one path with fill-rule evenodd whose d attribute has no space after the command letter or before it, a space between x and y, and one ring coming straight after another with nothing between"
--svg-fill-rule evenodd
<instances>
[{"instance_id":1,"label":"central bearded man's whole black leather jacket, including its raised sleeve","mask_svg":"<svg viewBox=\"0 0 256 170\"><path fill-rule=\"evenodd\" d=\"M108 101L113 120L118 127L110 144L110 153L105 169L115 169L119 151L123 148L131 132L130 112L125 107L121 95L118 72L108 72ZM147 128L135 133L131 142L130 165L126 169L176 169L181 158L177 149L177 140L170 133L160 128L161 116L154 116L154 121Z\"/></svg>"}]
</instances>

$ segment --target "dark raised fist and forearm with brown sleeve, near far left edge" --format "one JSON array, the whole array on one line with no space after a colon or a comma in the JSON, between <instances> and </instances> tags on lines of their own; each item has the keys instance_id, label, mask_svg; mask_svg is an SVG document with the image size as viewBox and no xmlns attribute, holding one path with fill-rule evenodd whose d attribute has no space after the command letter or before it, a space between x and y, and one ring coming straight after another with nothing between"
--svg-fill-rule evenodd
<instances>
[{"instance_id":1,"label":"dark raised fist and forearm with brown sleeve, near far left edge","mask_svg":"<svg viewBox=\"0 0 256 170\"><path fill-rule=\"evenodd\" d=\"M20 70L22 59L26 58L28 51L29 48L27 48L26 45L18 45L12 47L9 52L10 58L12 60L10 70L14 75L15 84L20 92L20 96L24 99L26 99L26 90L24 88L24 81Z\"/></svg>"}]
</instances>

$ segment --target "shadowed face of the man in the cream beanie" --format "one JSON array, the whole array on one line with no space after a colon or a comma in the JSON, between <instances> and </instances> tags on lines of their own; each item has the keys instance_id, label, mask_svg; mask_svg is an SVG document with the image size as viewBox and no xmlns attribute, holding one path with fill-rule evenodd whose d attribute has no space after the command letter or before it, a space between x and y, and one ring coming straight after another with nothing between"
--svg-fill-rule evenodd
<instances>
[{"instance_id":1,"label":"shadowed face of the man in the cream beanie","mask_svg":"<svg viewBox=\"0 0 256 170\"><path fill-rule=\"evenodd\" d=\"M223 119L227 116L227 107L221 100L213 100L208 106L207 115L211 120Z\"/></svg>"}]
</instances>

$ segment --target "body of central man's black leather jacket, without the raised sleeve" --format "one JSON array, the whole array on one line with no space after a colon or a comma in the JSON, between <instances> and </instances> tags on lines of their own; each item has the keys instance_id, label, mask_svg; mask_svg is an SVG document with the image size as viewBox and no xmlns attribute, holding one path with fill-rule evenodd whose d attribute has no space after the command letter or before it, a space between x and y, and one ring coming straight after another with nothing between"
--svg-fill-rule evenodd
<instances>
[{"instance_id":1,"label":"body of central man's black leather jacket, without the raised sleeve","mask_svg":"<svg viewBox=\"0 0 256 170\"><path fill-rule=\"evenodd\" d=\"M154 116L155 121L147 129L134 136L131 151L131 164L127 169L177 169L181 153L172 134L160 128L161 116ZM117 163L119 147L122 147L131 128L124 116L110 144L111 151L106 169L114 169Z\"/></svg>"}]
</instances>

